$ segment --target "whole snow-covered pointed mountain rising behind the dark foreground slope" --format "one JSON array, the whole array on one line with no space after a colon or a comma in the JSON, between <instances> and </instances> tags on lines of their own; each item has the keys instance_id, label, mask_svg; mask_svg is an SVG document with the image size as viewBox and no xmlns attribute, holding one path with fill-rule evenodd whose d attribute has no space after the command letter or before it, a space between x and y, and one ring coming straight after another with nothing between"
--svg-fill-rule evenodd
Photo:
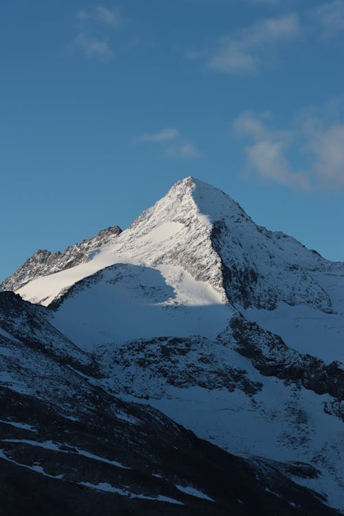
<instances>
[{"instance_id":1,"label":"whole snow-covered pointed mountain rising behind the dark foreground slope","mask_svg":"<svg viewBox=\"0 0 344 516\"><path fill-rule=\"evenodd\" d=\"M3 288L88 382L344 509L344 264L186 178L87 259L23 268Z\"/></svg>"}]
</instances>

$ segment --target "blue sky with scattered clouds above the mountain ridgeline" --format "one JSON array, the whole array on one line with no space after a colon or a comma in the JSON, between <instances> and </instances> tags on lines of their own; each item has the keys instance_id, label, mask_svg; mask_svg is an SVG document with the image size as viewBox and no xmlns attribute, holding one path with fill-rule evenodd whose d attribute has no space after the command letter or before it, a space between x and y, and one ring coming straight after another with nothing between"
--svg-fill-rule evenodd
<instances>
[{"instance_id":1,"label":"blue sky with scattered clouds above the mountain ridgeline","mask_svg":"<svg viewBox=\"0 0 344 516\"><path fill-rule=\"evenodd\" d=\"M194 175L344 261L344 0L3 0L0 278Z\"/></svg>"}]
</instances>

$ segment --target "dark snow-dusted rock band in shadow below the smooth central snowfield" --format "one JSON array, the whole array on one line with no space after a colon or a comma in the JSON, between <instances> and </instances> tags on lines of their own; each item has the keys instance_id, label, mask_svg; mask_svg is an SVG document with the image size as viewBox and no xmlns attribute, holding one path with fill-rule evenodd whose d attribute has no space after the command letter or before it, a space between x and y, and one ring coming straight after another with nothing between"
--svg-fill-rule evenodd
<instances>
[{"instance_id":1,"label":"dark snow-dusted rock band in shadow below the smooth central snowfield","mask_svg":"<svg viewBox=\"0 0 344 516\"><path fill-rule=\"evenodd\" d=\"M222 350L202 336L189 338L158 337L133 341L119 349L100 347L97 358L111 385L118 391L138 398L161 396L165 385L179 388L235 389L248 396L261 390L262 384L248 378L244 369L226 363ZM149 378L154 378L154 387Z\"/></svg>"}]
</instances>

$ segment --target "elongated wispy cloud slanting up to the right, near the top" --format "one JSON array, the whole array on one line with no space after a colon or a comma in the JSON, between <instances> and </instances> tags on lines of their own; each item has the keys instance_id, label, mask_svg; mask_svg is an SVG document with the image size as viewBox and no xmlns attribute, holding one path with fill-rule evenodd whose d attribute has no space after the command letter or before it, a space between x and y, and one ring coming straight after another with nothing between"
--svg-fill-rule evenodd
<instances>
[{"instance_id":1,"label":"elongated wispy cloud slanting up to the right, near the top","mask_svg":"<svg viewBox=\"0 0 344 516\"><path fill-rule=\"evenodd\" d=\"M257 73L272 49L302 36L299 16L291 12L282 17L261 19L247 28L224 36L213 48L186 52L200 58L206 67L230 74Z\"/></svg>"}]
</instances>

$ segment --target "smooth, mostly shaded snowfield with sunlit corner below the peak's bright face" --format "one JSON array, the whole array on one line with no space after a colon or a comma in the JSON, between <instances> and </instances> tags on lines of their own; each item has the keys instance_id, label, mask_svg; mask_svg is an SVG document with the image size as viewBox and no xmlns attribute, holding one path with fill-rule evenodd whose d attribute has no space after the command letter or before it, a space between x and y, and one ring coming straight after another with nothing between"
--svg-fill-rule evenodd
<instances>
[{"instance_id":1,"label":"smooth, mostly shaded snowfield with sunlit corner below the peak's bright face","mask_svg":"<svg viewBox=\"0 0 344 516\"><path fill-rule=\"evenodd\" d=\"M169 279L178 275L174 289L155 268L116 264L100 270L50 305L51 321L87 351L156 335L211 337L226 326L232 311L216 304L208 283L171 266L163 271Z\"/></svg>"}]
</instances>

